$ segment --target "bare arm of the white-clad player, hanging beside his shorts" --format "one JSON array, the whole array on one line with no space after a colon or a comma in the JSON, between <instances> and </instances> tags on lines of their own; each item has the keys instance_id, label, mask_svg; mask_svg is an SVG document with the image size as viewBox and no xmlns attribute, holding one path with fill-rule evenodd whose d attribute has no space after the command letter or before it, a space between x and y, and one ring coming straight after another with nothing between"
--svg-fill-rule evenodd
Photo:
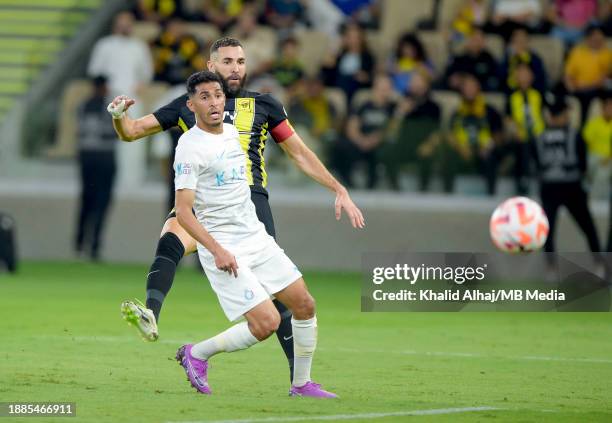
<instances>
[{"instance_id":1,"label":"bare arm of the white-clad player, hanging beside his shorts","mask_svg":"<svg viewBox=\"0 0 612 423\"><path fill-rule=\"evenodd\" d=\"M238 277L236 257L215 241L193 215L194 200L195 191L190 189L179 189L176 191L175 210L179 224L189 235L210 251L215 258L217 269Z\"/></svg>"}]
</instances>

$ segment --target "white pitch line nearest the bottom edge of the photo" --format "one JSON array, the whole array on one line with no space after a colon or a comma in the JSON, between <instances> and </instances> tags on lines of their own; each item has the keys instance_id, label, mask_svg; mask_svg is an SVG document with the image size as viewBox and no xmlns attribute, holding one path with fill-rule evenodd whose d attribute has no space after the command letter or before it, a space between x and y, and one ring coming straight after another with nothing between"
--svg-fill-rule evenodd
<instances>
[{"instance_id":1,"label":"white pitch line nearest the bottom edge of the photo","mask_svg":"<svg viewBox=\"0 0 612 423\"><path fill-rule=\"evenodd\" d=\"M440 414L469 413L474 411L495 411L503 410L496 407L462 407L462 408L438 408L432 410L407 410L394 411L389 413L362 413L362 414L331 414L325 416L292 416L292 417L263 417L259 419L238 419L238 420L192 420L183 422L166 423L268 423L268 422L301 422L315 420L351 420L351 419L381 419L385 417L401 416L432 416Z\"/></svg>"}]
</instances>

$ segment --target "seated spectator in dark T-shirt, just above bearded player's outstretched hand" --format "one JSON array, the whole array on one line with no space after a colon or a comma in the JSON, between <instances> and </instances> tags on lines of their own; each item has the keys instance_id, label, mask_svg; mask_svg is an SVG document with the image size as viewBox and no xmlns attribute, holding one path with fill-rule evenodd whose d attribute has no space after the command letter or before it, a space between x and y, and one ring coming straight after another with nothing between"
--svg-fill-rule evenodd
<instances>
[{"instance_id":1,"label":"seated spectator in dark T-shirt, just above bearded player's outstretched hand","mask_svg":"<svg viewBox=\"0 0 612 423\"><path fill-rule=\"evenodd\" d=\"M345 137L339 140L332 153L332 166L354 187L353 169L358 162L367 165L367 188L373 189L378 182L378 153L389 121L393 115L393 85L391 79L379 74L374 80L371 99L356 105L350 113Z\"/></svg>"}]
</instances>

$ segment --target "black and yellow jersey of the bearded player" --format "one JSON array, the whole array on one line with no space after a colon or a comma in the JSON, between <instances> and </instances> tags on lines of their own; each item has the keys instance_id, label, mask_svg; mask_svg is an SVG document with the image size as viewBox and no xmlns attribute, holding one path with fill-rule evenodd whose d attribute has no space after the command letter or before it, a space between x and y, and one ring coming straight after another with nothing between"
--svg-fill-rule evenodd
<instances>
[{"instance_id":1,"label":"black and yellow jersey of the bearded player","mask_svg":"<svg viewBox=\"0 0 612 423\"><path fill-rule=\"evenodd\" d=\"M163 130L178 126L187 132L195 125L195 115L187 107L187 94L159 108L153 115ZM282 104L269 94L241 91L225 101L224 122L232 124L240 134L240 145L246 153L246 178L251 189L265 192L268 184L264 150L268 132L287 121ZM275 138L277 143L285 139ZM286 137L285 137L286 138Z\"/></svg>"}]
</instances>

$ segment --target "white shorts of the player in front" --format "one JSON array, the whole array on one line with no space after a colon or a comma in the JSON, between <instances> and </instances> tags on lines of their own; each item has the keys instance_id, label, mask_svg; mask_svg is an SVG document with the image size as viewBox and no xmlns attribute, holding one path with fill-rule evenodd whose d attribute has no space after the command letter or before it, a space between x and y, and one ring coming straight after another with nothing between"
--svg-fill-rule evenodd
<instances>
[{"instance_id":1,"label":"white shorts of the player in front","mask_svg":"<svg viewBox=\"0 0 612 423\"><path fill-rule=\"evenodd\" d=\"M229 248L228 251L233 253ZM232 322L302 277L297 266L274 241L256 254L234 253L238 277L217 269L207 252L198 254L221 308Z\"/></svg>"}]
</instances>

